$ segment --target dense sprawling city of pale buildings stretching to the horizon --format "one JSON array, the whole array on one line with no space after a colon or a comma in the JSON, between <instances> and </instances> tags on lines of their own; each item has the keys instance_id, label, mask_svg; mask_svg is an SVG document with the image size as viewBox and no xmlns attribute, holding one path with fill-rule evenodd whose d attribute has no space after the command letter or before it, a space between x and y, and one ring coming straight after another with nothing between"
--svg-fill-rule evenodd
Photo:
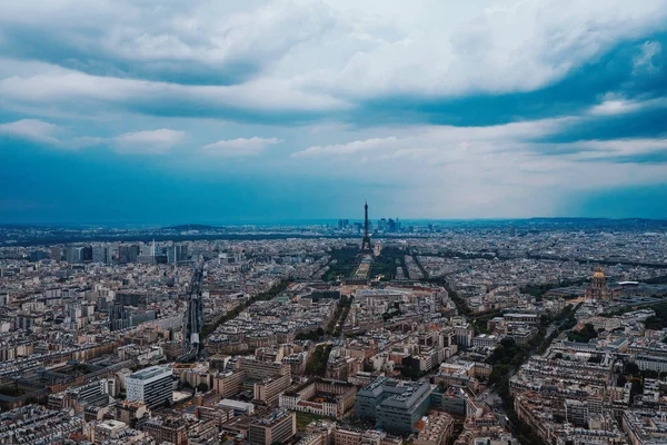
<instances>
[{"instance_id":1,"label":"dense sprawling city of pale buildings stretching to the horizon","mask_svg":"<svg viewBox=\"0 0 667 445\"><path fill-rule=\"evenodd\" d=\"M666 228L4 226L0 443L665 443Z\"/></svg>"}]
</instances>

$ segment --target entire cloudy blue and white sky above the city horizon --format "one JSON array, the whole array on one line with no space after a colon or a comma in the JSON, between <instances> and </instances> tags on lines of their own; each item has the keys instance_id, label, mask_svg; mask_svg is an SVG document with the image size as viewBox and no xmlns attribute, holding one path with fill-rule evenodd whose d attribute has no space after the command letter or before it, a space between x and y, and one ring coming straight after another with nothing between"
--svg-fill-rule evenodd
<instances>
[{"instance_id":1,"label":"entire cloudy blue and white sky above the city horizon","mask_svg":"<svg viewBox=\"0 0 667 445\"><path fill-rule=\"evenodd\" d=\"M667 218L667 0L0 2L0 222Z\"/></svg>"}]
</instances>

